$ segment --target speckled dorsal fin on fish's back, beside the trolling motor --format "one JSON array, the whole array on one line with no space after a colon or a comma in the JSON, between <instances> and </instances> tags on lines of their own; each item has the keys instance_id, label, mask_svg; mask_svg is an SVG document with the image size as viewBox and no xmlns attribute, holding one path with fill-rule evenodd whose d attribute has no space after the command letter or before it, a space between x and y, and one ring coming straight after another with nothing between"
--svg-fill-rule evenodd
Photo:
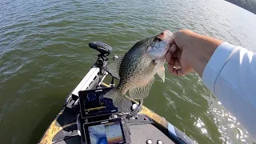
<instances>
[{"instance_id":1,"label":"speckled dorsal fin on fish's back, beside the trolling motor","mask_svg":"<svg viewBox=\"0 0 256 144\"><path fill-rule=\"evenodd\" d=\"M118 78L119 77L119 68L122 62L122 58L123 56L119 56L118 58L116 58L113 62L111 62L108 66L107 66L107 70L108 72L114 77L114 78Z\"/></svg>"}]
</instances>

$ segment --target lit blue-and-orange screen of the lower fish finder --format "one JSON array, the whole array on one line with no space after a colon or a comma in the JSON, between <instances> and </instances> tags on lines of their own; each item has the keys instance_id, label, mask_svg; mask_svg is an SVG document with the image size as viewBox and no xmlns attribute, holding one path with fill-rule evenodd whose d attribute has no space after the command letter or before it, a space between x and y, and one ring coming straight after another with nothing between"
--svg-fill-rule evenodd
<instances>
[{"instance_id":1,"label":"lit blue-and-orange screen of the lower fish finder","mask_svg":"<svg viewBox=\"0 0 256 144\"><path fill-rule=\"evenodd\" d=\"M91 144L124 143L120 122L89 126L88 130Z\"/></svg>"}]
</instances>

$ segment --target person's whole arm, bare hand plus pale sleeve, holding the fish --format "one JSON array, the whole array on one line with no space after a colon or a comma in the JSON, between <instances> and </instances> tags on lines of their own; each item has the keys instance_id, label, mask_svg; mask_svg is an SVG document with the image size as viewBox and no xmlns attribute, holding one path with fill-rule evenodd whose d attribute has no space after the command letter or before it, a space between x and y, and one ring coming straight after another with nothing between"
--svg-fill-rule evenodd
<instances>
[{"instance_id":1,"label":"person's whole arm, bare hand plus pale sleeve, holding the fish","mask_svg":"<svg viewBox=\"0 0 256 144\"><path fill-rule=\"evenodd\" d=\"M175 33L174 42L166 57L170 72L179 76L196 71L223 106L256 138L256 54L190 30ZM171 48L176 50L173 55ZM174 70L179 65L181 68Z\"/></svg>"}]
</instances>

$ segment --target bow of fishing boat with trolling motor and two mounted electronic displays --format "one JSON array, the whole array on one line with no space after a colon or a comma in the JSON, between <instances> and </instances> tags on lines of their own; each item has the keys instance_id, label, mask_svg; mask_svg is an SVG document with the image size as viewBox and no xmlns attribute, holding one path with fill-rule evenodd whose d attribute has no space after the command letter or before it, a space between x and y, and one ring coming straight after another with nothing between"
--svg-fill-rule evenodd
<instances>
[{"instance_id":1,"label":"bow of fishing boat with trolling motor and two mounted electronic displays","mask_svg":"<svg viewBox=\"0 0 256 144\"><path fill-rule=\"evenodd\" d=\"M169 144L195 143L165 118L142 105L126 99L122 108L114 107L103 95L114 87L116 78L104 82L112 47L90 42L98 50L98 60L82 81L67 95L62 110L50 123L38 143L88 144ZM116 57L116 56L115 56Z\"/></svg>"}]
</instances>

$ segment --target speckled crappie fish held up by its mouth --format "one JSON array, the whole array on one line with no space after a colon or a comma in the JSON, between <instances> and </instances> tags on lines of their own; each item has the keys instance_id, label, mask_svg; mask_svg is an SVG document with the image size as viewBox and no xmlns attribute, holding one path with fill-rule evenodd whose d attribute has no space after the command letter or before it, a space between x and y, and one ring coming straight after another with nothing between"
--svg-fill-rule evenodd
<instances>
[{"instance_id":1,"label":"speckled crappie fish held up by its mouth","mask_svg":"<svg viewBox=\"0 0 256 144\"><path fill-rule=\"evenodd\" d=\"M154 37L143 39L124 56L110 63L107 69L120 81L104 97L113 99L116 107L122 106L128 90L130 98L146 98L154 83L154 74L165 81L164 62L172 37L170 30L165 30Z\"/></svg>"}]
</instances>

